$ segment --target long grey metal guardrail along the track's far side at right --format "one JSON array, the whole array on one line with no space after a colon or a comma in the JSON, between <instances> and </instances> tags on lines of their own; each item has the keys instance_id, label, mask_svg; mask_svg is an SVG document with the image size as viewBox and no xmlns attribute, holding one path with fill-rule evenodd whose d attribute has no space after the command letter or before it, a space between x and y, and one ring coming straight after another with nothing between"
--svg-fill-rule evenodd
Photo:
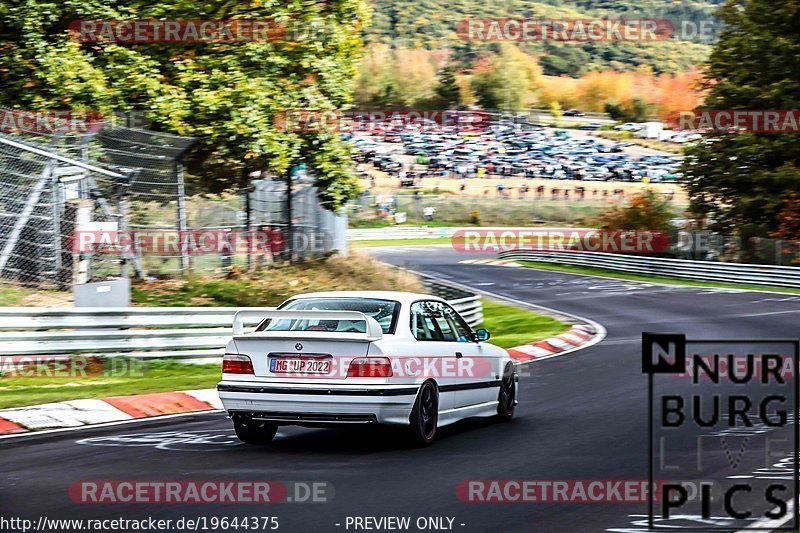
<instances>
[{"instance_id":1,"label":"long grey metal guardrail along the track's far side at right","mask_svg":"<svg viewBox=\"0 0 800 533\"><path fill-rule=\"evenodd\" d=\"M743 263L689 261L602 252L505 251L502 259L606 268L698 281L800 288L800 268Z\"/></svg>"}]
</instances>

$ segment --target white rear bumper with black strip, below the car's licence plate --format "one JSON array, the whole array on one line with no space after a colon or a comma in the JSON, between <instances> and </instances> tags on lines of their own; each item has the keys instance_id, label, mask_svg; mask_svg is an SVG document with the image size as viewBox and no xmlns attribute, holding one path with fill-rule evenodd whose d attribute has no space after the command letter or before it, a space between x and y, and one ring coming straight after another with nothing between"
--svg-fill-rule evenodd
<instances>
[{"instance_id":1,"label":"white rear bumper with black strip, below the car's licence plate","mask_svg":"<svg viewBox=\"0 0 800 533\"><path fill-rule=\"evenodd\" d=\"M220 400L231 416L284 425L408 425L415 385L342 386L329 384L254 384L223 381Z\"/></svg>"}]
</instances>

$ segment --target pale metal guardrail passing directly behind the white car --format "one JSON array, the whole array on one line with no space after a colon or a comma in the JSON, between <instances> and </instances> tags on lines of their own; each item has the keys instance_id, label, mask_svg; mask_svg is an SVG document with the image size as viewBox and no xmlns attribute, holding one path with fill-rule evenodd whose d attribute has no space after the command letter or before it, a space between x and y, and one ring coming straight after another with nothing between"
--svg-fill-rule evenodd
<instances>
[{"instance_id":1,"label":"pale metal guardrail passing directly behind the white car","mask_svg":"<svg viewBox=\"0 0 800 533\"><path fill-rule=\"evenodd\" d=\"M437 291L434 287L434 293ZM471 326L483 321L480 296L450 304ZM0 357L75 354L185 361L221 358L237 311L274 307L0 307ZM254 326L258 319L246 321Z\"/></svg>"}]
</instances>

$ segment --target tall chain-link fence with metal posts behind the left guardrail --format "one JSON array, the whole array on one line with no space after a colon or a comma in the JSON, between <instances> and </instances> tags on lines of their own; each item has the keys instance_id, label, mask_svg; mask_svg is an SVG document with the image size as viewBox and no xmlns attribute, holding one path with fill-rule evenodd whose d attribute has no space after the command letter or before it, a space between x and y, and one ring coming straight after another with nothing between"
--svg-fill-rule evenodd
<instances>
[{"instance_id":1,"label":"tall chain-link fence with metal posts behind the left guardrail","mask_svg":"<svg viewBox=\"0 0 800 533\"><path fill-rule=\"evenodd\" d=\"M346 219L323 209L304 174L291 201L275 178L187 196L182 160L193 142L115 123L82 134L0 133L0 280L67 289L345 250Z\"/></svg>"}]
</instances>

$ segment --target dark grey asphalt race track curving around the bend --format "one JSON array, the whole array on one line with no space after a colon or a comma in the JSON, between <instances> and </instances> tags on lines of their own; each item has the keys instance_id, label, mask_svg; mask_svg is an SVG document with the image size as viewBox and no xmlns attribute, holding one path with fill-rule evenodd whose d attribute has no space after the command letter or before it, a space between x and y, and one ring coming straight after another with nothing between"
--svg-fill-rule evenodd
<instances>
[{"instance_id":1,"label":"dark grey asphalt race track curving around the bend","mask_svg":"<svg viewBox=\"0 0 800 533\"><path fill-rule=\"evenodd\" d=\"M427 449L409 449L387 430L300 428L282 428L271 448L249 447L236 442L220 413L0 441L0 516L277 516L279 530L292 532L354 531L346 528L348 516L410 516L412 524L431 516L454 518L456 531L645 531L643 503L464 503L456 486L481 479L646 480L643 331L716 339L800 336L800 296L459 264L469 256L449 248L373 253L453 282L591 318L606 328L607 337L531 365L520 382L521 404L512 423L462 423ZM731 443L738 448L738 441ZM741 454L743 473L764 466L757 455ZM78 481L131 479L325 481L335 495L330 503L273 506L78 505L68 497ZM737 497L742 506L748 501ZM691 516L673 524L705 527Z\"/></svg>"}]
</instances>

